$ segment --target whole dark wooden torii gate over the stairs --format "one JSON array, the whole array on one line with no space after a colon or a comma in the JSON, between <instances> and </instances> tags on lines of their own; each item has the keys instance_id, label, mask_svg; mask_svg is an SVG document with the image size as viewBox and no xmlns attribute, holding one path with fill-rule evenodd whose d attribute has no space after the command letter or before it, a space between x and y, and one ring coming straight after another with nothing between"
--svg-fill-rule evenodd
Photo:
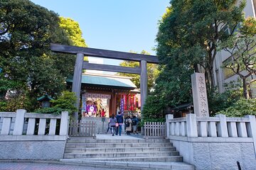
<instances>
[{"instance_id":1,"label":"whole dark wooden torii gate over the stairs","mask_svg":"<svg viewBox=\"0 0 256 170\"><path fill-rule=\"evenodd\" d=\"M141 93L141 110L143 110L144 103L147 96L147 70L146 64L154 63L158 64L159 60L154 55L140 55L130 52L118 52L112 50L101 50L89 47L77 47L71 45L59 45L59 44L50 44L50 50L54 52L63 52L68 54L76 54L75 60L75 71L73 75L73 85L72 91L75 92L77 97L77 102L75 104L76 108L79 108L80 103L80 90L81 90L81 79L82 79L82 69L94 69L107 72L124 72L132 74L140 74L140 93ZM139 62L139 67L120 67L112 66L106 64L90 64L89 62L84 61L84 56L88 57L101 57L108 59L117 59L117 60L129 60ZM73 114L75 120L78 120L78 112Z\"/></svg>"}]
</instances>

